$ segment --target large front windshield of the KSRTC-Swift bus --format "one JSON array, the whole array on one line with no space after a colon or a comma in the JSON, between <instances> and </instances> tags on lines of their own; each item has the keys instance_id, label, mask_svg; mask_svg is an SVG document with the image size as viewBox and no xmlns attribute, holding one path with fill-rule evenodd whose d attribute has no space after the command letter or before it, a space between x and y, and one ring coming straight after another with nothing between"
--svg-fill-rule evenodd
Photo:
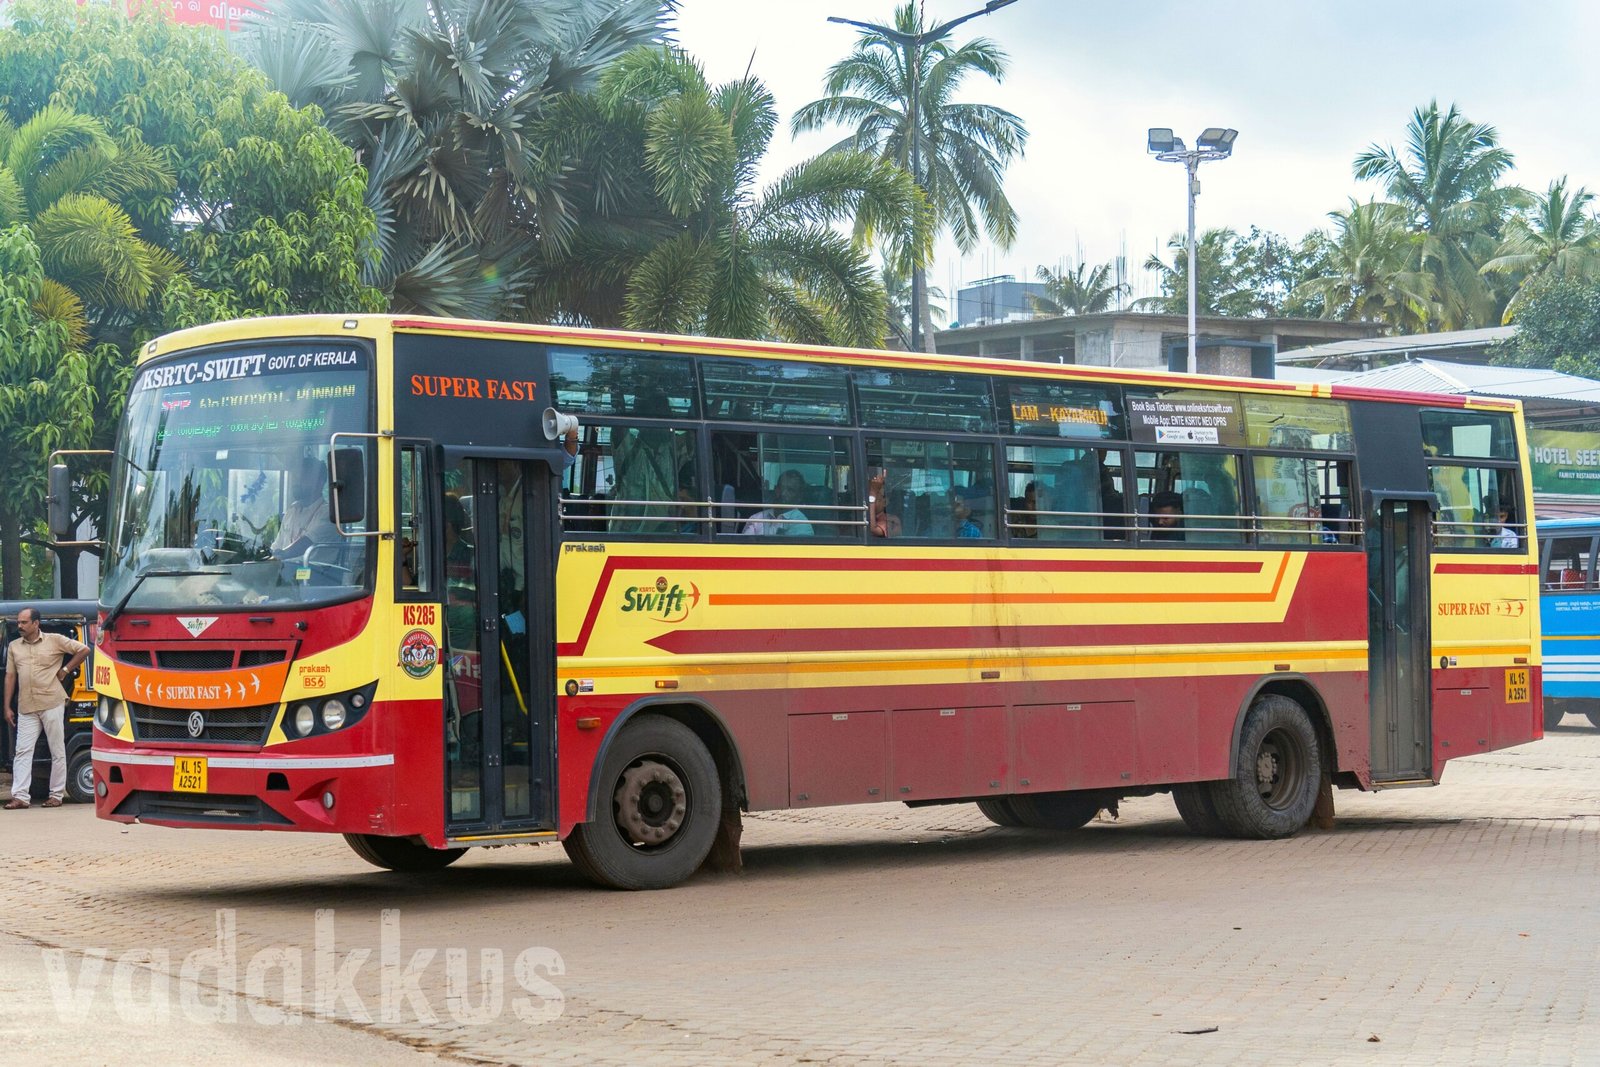
<instances>
[{"instance_id":1,"label":"large front windshield of the KSRTC-Swift bus","mask_svg":"<svg viewBox=\"0 0 1600 1067\"><path fill-rule=\"evenodd\" d=\"M102 601L246 609L363 592L368 539L349 534L365 523L334 526L328 450L336 432L371 430L370 381L366 350L347 341L141 366L112 470Z\"/></svg>"}]
</instances>

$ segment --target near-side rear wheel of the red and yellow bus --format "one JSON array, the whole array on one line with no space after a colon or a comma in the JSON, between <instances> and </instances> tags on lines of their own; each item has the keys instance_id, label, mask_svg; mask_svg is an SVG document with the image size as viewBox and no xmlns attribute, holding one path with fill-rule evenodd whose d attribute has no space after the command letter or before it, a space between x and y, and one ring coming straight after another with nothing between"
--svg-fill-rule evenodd
<instances>
[{"instance_id":1,"label":"near-side rear wheel of the red and yellow bus","mask_svg":"<svg viewBox=\"0 0 1600 1067\"><path fill-rule=\"evenodd\" d=\"M1306 709L1262 696L1245 715L1234 777L1211 782L1211 803L1232 837L1290 837L1310 819L1322 784L1322 745Z\"/></svg>"}]
</instances>

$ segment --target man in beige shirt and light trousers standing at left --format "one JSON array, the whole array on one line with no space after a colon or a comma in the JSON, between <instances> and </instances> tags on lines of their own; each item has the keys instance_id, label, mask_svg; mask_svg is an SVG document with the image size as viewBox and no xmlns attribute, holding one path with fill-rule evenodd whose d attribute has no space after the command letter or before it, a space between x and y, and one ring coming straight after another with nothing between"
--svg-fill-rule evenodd
<instances>
[{"instance_id":1,"label":"man in beige shirt and light trousers standing at left","mask_svg":"<svg viewBox=\"0 0 1600 1067\"><path fill-rule=\"evenodd\" d=\"M66 689L61 683L72 675L90 646L61 633L42 633L38 608L16 613L16 629L22 637L11 641L5 661L5 720L16 725L16 758L11 763L11 800L6 811L29 806L34 784L34 745L43 733L50 742L50 800L45 808L59 808L67 792L67 745L64 713ZM61 657L70 656L62 664ZM16 697L16 712L11 699ZM21 721L18 721L21 718Z\"/></svg>"}]
</instances>

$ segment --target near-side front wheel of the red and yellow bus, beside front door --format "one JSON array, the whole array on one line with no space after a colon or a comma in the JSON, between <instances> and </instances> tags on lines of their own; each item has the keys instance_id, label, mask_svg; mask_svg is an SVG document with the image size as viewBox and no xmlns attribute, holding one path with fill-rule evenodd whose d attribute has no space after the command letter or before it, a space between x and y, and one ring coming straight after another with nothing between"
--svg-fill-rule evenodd
<instances>
[{"instance_id":1,"label":"near-side front wheel of the red and yellow bus, beside front door","mask_svg":"<svg viewBox=\"0 0 1600 1067\"><path fill-rule=\"evenodd\" d=\"M600 765L602 809L562 845L578 869L613 889L666 889L699 870L717 837L722 782L694 731L642 715Z\"/></svg>"}]
</instances>

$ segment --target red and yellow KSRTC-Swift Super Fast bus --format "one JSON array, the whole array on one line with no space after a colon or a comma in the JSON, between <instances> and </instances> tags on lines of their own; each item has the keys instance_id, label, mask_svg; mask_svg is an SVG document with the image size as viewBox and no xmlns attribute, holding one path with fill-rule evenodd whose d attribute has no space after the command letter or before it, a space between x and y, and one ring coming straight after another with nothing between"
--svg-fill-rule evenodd
<instances>
[{"instance_id":1,"label":"red and yellow KSRTC-Swift Super Fast bus","mask_svg":"<svg viewBox=\"0 0 1600 1067\"><path fill-rule=\"evenodd\" d=\"M576 422L576 458L563 438ZM150 342L117 445L102 817L677 883L741 811L1325 785L1541 736L1510 402L603 330ZM718 851L718 856L736 854Z\"/></svg>"}]
</instances>

